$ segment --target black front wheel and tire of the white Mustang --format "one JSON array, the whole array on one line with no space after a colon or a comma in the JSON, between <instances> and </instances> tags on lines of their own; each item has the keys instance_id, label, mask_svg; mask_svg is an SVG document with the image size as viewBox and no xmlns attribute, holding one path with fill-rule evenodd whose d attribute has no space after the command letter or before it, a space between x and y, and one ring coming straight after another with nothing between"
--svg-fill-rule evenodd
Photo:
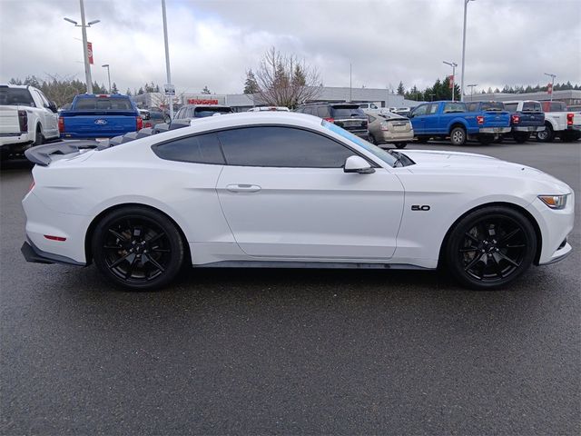
<instances>
[{"instance_id":1,"label":"black front wheel and tire of the white Mustang","mask_svg":"<svg viewBox=\"0 0 581 436\"><path fill-rule=\"evenodd\" d=\"M537 234L527 217L506 206L488 206L455 224L445 263L458 282L485 291L516 280L536 253Z\"/></svg>"}]
</instances>

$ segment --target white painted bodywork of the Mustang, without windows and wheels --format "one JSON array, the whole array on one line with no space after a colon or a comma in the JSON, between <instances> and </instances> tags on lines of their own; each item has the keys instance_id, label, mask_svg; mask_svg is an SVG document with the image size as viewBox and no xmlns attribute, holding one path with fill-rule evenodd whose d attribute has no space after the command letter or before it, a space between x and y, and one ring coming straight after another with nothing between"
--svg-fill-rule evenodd
<instances>
[{"instance_id":1,"label":"white painted bodywork of the Mustang, without windows and wheels","mask_svg":"<svg viewBox=\"0 0 581 436\"><path fill-rule=\"evenodd\" d=\"M334 137L377 163L376 171L182 163L163 160L151 148L187 134L251 124L300 126ZM446 233L463 213L488 203L510 203L537 223L539 263L571 250L568 243L557 250L573 228L574 195L566 183L478 154L403 153L416 164L392 168L310 115L203 118L191 127L36 165L34 189L23 201L26 235L42 252L84 264L85 235L95 217L110 207L137 203L172 218L190 244L194 265L294 261L435 268ZM261 189L232 193L231 185ZM559 211L537 198L566 193L566 208ZM430 209L412 211L417 204Z\"/></svg>"}]
</instances>

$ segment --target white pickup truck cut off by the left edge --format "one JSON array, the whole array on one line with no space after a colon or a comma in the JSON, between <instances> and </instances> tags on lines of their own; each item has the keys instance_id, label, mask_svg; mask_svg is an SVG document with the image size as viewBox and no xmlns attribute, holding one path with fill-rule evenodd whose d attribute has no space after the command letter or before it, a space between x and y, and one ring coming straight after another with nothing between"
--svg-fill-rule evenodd
<instances>
[{"instance_id":1,"label":"white pickup truck cut off by the left edge","mask_svg":"<svg viewBox=\"0 0 581 436\"><path fill-rule=\"evenodd\" d=\"M0 84L0 156L24 153L59 137L54 102L34 86Z\"/></svg>"}]
</instances>

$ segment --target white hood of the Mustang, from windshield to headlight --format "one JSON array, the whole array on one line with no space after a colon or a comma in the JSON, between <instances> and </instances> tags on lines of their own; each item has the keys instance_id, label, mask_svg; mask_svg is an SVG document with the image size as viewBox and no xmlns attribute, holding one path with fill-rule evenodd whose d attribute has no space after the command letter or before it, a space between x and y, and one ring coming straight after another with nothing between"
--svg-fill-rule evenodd
<instances>
[{"instance_id":1,"label":"white hood of the Mustang, from windshield to headlight","mask_svg":"<svg viewBox=\"0 0 581 436\"><path fill-rule=\"evenodd\" d=\"M550 174L521 163L511 163L484 154L436 150L406 150L415 165L406 168L411 173L472 173L485 177L515 177L529 179L551 187L554 193L571 193L571 188Z\"/></svg>"}]
</instances>

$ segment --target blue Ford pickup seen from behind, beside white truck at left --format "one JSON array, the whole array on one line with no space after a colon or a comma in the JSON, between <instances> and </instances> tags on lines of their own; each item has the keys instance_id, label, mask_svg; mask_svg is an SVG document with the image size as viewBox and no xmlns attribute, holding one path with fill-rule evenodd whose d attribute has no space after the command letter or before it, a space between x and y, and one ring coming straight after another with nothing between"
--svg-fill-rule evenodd
<instances>
[{"instance_id":1,"label":"blue Ford pickup seen from behind, beside white truck at left","mask_svg":"<svg viewBox=\"0 0 581 436\"><path fill-rule=\"evenodd\" d=\"M79 94L58 119L61 138L112 138L143 128L133 101L122 94Z\"/></svg>"}]
</instances>

